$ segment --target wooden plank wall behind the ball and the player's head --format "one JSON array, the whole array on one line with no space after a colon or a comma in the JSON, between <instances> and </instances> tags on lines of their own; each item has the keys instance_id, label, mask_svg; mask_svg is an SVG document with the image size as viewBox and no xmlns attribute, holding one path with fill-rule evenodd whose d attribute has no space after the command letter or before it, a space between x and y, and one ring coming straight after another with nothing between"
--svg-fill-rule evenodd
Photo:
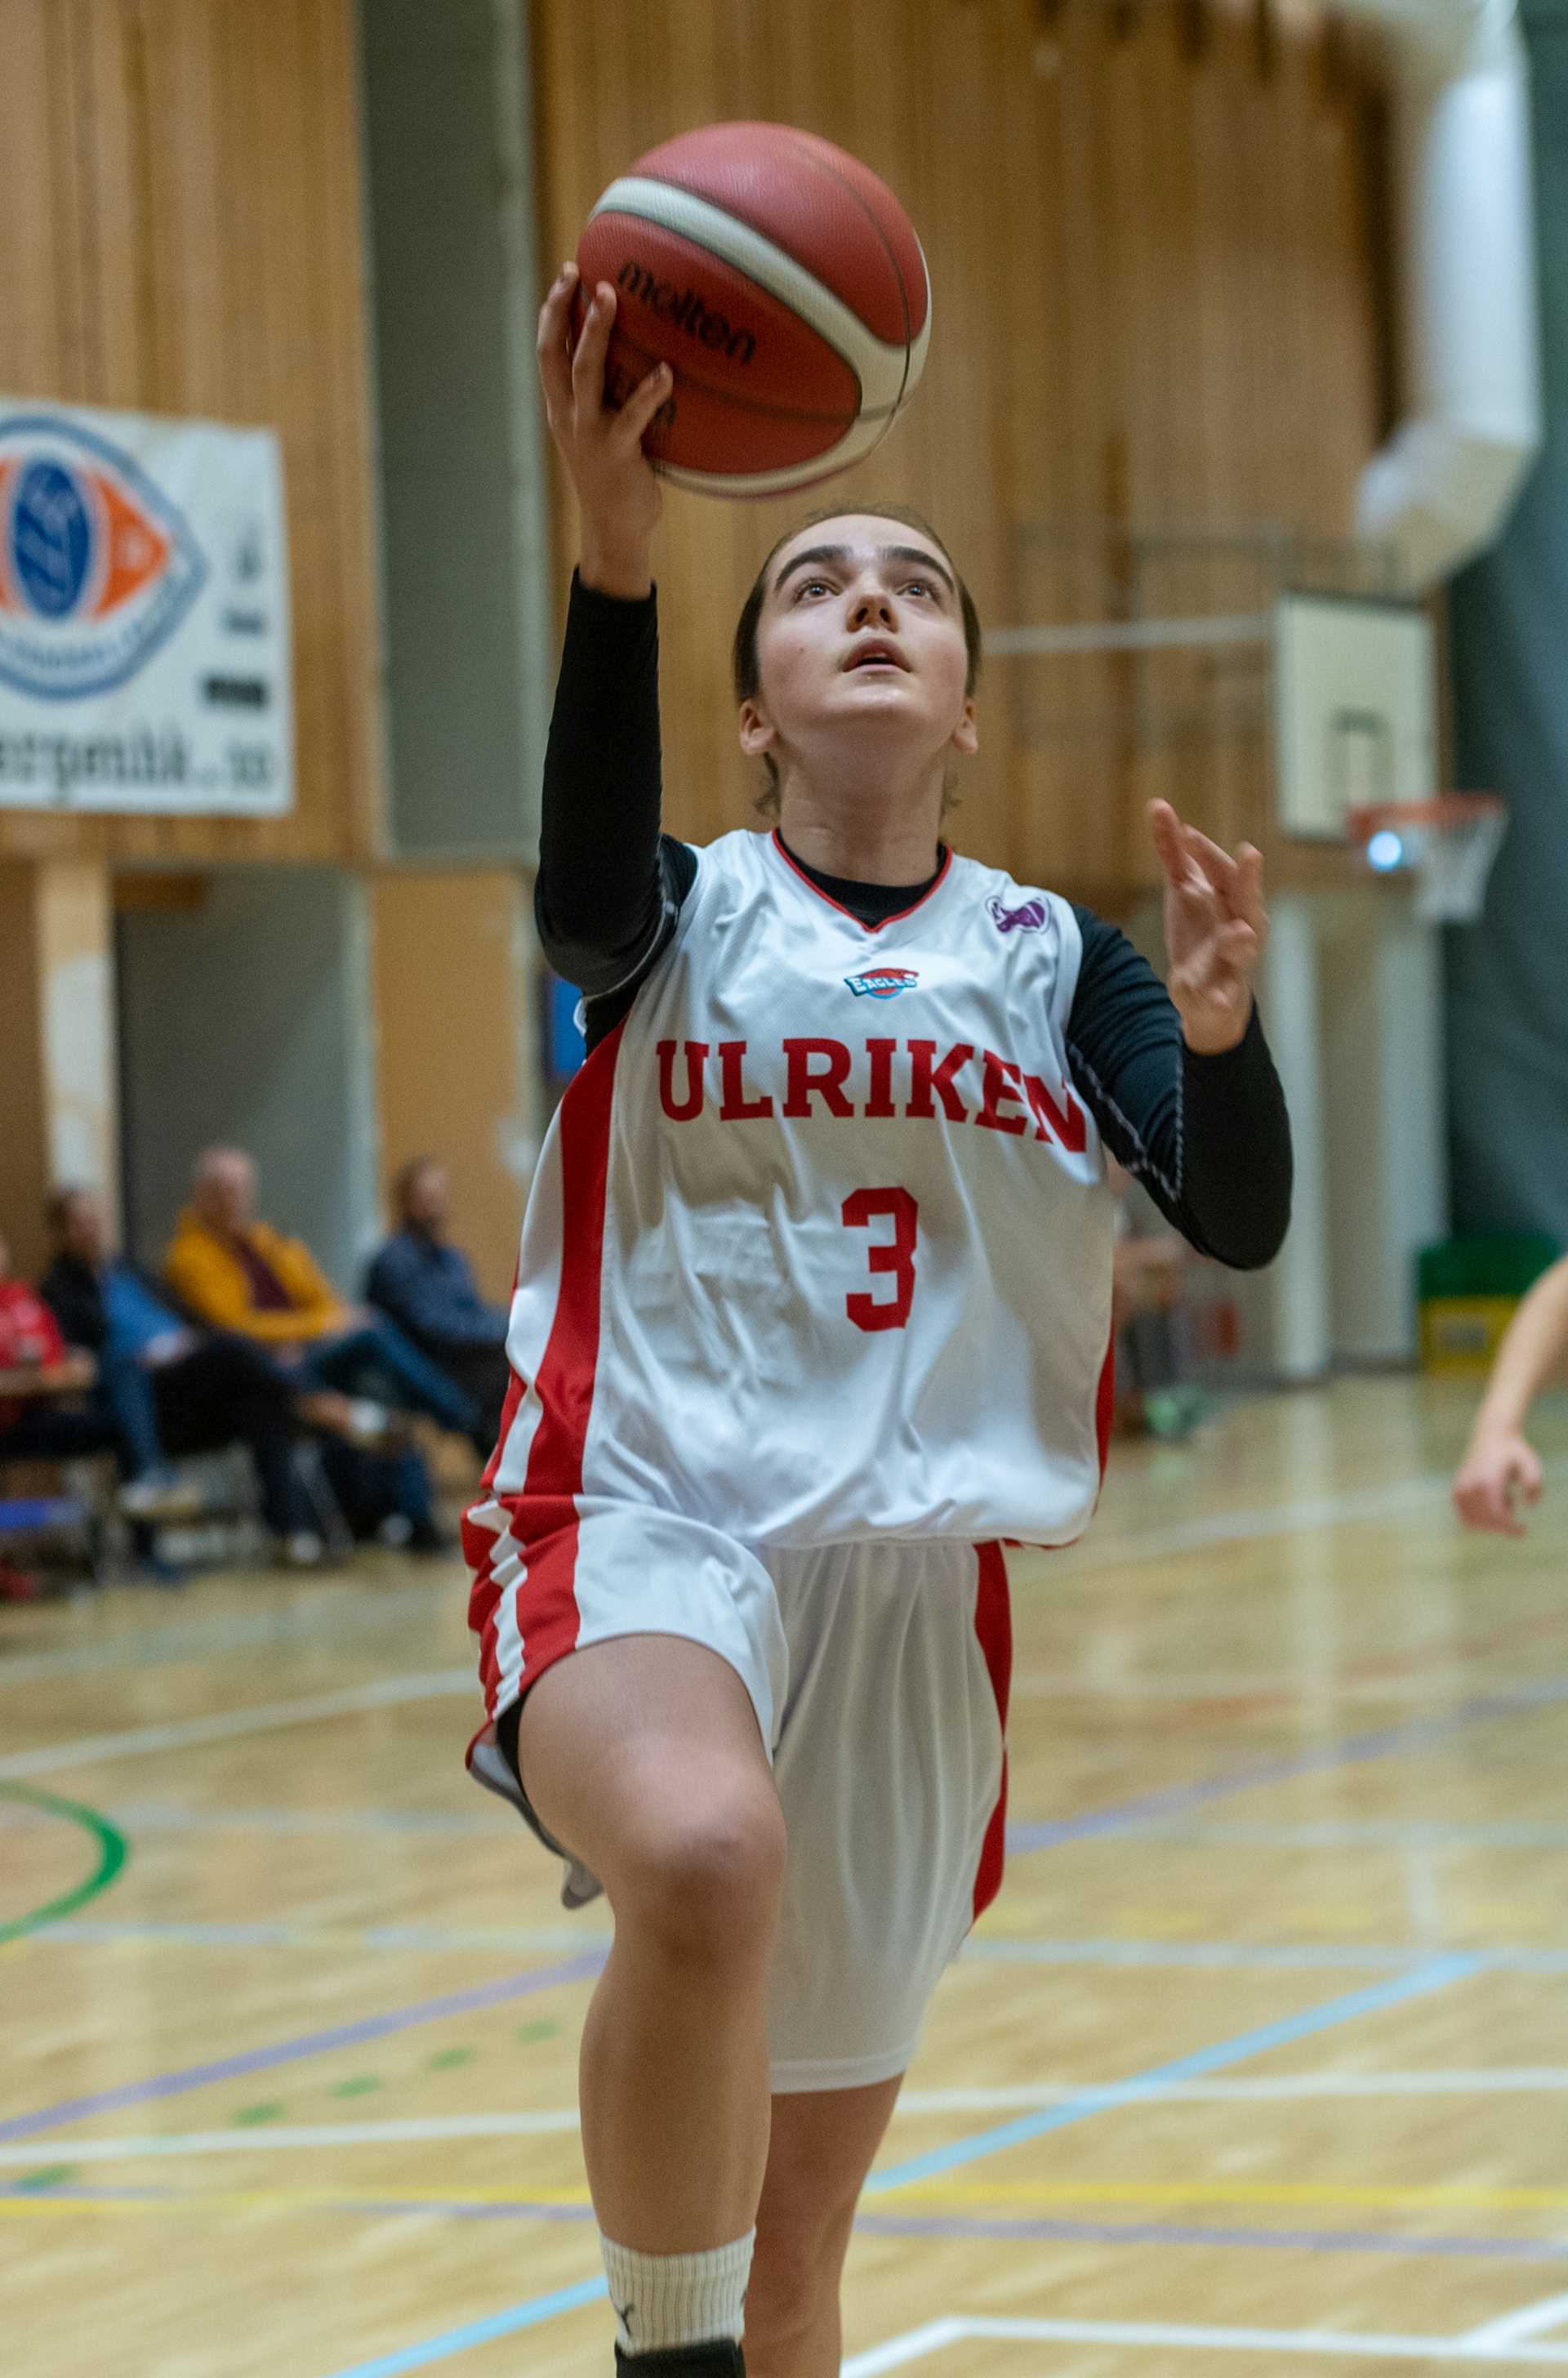
<instances>
[{"instance_id":1,"label":"wooden plank wall behind the ball and the player's head","mask_svg":"<svg viewBox=\"0 0 1568 2378\"><path fill-rule=\"evenodd\" d=\"M599 190L696 124L839 140L900 193L934 283L924 388L834 483L846 507L922 504L991 625L1247 609L1247 552L1150 561L1140 540L1340 540L1380 426L1366 93L1319 10L1271 5L1264 24L1264 5L539 0L544 252L554 271ZM668 816L696 839L748 818L729 628L763 552L820 499L668 497ZM565 583L570 504L558 526ZM1181 730L1140 723L1174 697ZM955 835L1126 901L1150 880L1152 794L1228 839L1264 835L1262 697L1245 652L993 661Z\"/></svg>"}]
</instances>

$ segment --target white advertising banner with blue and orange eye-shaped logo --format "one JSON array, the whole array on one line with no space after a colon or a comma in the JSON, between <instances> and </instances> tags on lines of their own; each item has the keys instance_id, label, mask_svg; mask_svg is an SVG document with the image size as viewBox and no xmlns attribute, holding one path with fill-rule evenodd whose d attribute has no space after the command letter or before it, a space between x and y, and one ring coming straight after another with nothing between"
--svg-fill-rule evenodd
<instances>
[{"instance_id":1,"label":"white advertising banner with blue and orange eye-shaped logo","mask_svg":"<svg viewBox=\"0 0 1568 2378\"><path fill-rule=\"evenodd\" d=\"M0 397L0 804L295 806L271 430Z\"/></svg>"}]
</instances>

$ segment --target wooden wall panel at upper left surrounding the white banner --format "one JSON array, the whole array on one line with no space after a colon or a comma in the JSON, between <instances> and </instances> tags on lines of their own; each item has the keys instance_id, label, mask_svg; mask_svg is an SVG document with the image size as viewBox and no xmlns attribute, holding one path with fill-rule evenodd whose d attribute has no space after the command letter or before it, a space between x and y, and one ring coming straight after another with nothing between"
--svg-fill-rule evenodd
<instances>
[{"instance_id":1,"label":"wooden wall panel at upper left surrounding the white banner","mask_svg":"<svg viewBox=\"0 0 1568 2378\"><path fill-rule=\"evenodd\" d=\"M352 858L380 813L354 0L0 0L0 390L266 423L297 809L0 809L0 858Z\"/></svg>"}]
</instances>

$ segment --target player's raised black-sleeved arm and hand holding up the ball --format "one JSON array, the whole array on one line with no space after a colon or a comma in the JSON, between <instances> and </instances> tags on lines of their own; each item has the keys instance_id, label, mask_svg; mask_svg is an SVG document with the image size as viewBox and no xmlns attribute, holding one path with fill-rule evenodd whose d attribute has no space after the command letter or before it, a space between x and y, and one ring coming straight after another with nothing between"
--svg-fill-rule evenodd
<instances>
[{"instance_id":1,"label":"player's raised black-sleeved arm and hand holding up the ball","mask_svg":"<svg viewBox=\"0 0 1568 2378\"><path fill-rule=\"evenodd\" d=\"M658 614L653 530L660 490L641 435L668 392L649 373L620 411L603 404L615 319L608 283L573 345L575 266L539 312L539 383L580 511L544 756L535 916L544 956L589 1001L589 1039L615 1020L663 949L691 887L691 851L660 839Z\"/></svg>"}]
</instances>

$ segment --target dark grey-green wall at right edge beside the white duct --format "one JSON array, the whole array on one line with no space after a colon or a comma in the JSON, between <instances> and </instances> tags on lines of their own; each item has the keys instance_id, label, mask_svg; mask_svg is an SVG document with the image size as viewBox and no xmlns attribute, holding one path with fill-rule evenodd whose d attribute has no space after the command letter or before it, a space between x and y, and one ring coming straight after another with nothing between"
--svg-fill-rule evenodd
<instances>
[{"instance_id":1,"label":"dark grey-green wall at right edge beside the white duct","mask_svg":"<svg viewBox=\"0 0 1568 2378\"><path fill-rule=\"evenodd\" d=\"M1525 0L1547 449L1454 585L1456 782L1511 804L1485 920L1447 946L1454 1222L1568 1246L1568 0Z\"/></svg>"}]
</instances>

